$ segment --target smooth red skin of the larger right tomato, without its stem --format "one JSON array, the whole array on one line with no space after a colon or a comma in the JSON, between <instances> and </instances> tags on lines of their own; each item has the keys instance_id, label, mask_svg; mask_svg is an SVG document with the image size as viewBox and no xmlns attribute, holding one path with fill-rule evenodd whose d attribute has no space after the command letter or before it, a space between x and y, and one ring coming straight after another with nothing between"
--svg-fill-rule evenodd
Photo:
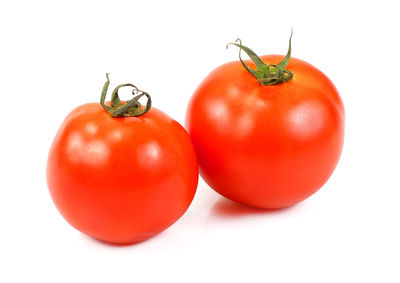
<instances>
[{"instance_id":1,"label":"smooth red skin of the larger right tomato, without its stem","mask_svg":"<svg viewBox=\"0 0 400 283\"><path fill-rule=\"evenodd\" d=\"M280 55L261 59L277 64ZM246 63L254 68L254 64ZM221 195L254 207L293 205L331 176L343 147L344 108L332 82L291 58L292 80L261 86L239 61L211 72L186 114L200 174Z\"/></svg>"}]
</instances>

